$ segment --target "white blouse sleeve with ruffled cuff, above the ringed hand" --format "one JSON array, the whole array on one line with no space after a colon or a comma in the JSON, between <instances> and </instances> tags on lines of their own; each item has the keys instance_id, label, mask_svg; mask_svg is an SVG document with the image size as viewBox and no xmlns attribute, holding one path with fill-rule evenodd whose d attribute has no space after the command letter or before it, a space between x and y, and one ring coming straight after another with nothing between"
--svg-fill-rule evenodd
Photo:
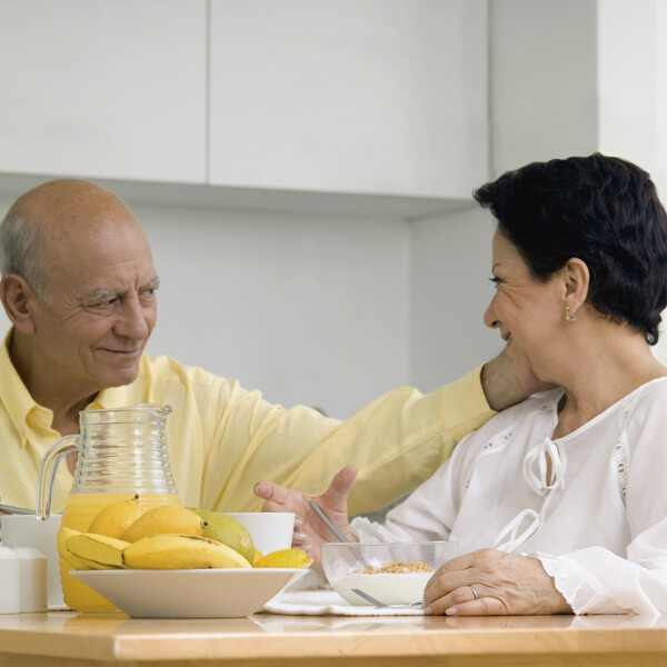
<instances>
[{"instance_id":1,"label":"white blouse sleeve with ruffled cuff, above the ringed hand","mask_svg":"<svg viewBox=\"0 0 667 667\"><path fill-rule=\"evenodd\" d=\"M663 394L663 399L667 399ZM575 614L667 614L667 417L663 401L639 401L629 419L625 558L590 547L531 554ZM604 514L603 514L604 516Z\"/></svg>"}]
</instances>

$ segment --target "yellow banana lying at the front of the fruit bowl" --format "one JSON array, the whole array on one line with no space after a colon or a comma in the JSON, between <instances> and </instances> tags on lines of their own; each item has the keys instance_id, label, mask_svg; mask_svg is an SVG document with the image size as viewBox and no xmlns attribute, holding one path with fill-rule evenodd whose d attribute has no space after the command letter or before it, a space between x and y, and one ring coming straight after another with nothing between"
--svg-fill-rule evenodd
<instances>
[{"instance_id":1,"label":"yellow banana lying at the front of the fruit bowl","mask_svg":"<svg viewBox=\"0 0 667 667\"><path fill-rule=\"evenodd\" d=\"M151 535L123 549L126 567L136 569L195 569L250 567L231 547L195 535Z\"/></svg>"}]
</instances>

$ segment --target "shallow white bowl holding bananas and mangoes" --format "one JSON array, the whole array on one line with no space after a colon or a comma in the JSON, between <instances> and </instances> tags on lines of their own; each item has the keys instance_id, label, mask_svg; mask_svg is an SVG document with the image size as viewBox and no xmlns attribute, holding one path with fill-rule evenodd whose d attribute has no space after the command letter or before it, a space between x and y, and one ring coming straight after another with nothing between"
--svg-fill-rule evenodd
<instances>
[{"instance_id":1,"label":"shallow white bowl holding bananas and mangoes","mask_svg":"<svg viewBox=\"0 0 667 667\"><path fill-rule=\"evenodd\" d=\"M178 570L72 570L128 616L235 618L261 609L307 569L212 568Z\"/></svg>"}]
</instances>

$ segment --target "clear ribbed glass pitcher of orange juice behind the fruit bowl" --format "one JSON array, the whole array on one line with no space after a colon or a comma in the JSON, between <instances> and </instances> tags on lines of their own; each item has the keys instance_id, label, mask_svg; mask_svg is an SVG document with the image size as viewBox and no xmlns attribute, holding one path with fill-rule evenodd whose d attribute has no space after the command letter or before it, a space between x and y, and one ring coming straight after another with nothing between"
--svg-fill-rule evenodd
<instances>
[{"instance_id":1,"label":"clear ribbed glass pitcher of orange juice behind the fruit bowl","mask_svg":"<svg viewBox=\"0 0 667 667\"><path fill-rule=\"evenodd\" d=\"M37 485L37 515L46 519L51 508L56 470L62 458L77 450L77 468L62 512L61 526L82 532L107 505L139 496L142 509L179 505L169 466L166 425L170 406L130 406L79 412L80 434L64 436L44 454ZM64 604L72 609L106 610L113 605L68 573L60 559Z\"/></svg>"}]
</instances>

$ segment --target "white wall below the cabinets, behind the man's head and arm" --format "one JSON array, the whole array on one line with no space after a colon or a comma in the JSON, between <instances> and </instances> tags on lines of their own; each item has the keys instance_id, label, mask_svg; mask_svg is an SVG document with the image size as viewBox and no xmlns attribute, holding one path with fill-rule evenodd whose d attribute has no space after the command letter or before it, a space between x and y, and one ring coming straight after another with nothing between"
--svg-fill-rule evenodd
<instances>
[{"instance_id":1,"label":"white wall below the cabinets, behind the man's head and arm","mask_svg":"<svg viewBox=\"0 0 667 667\"><path fill-rule=\"evenodd\" d=\"M336 417L410 382L407 223L129 203L162 281L150 354Z\"/></svg>"}]
</instances>

